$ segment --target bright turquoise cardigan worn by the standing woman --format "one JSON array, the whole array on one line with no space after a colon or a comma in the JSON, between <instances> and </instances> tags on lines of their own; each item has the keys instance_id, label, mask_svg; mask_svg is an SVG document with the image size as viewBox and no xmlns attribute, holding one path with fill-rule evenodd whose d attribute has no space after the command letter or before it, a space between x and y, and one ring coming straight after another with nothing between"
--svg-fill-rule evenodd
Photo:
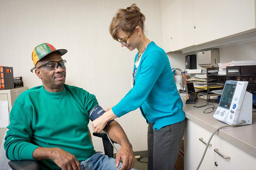
<instances>
[{"instance_id":1,"label":"bright turquoise cardigan worn by the standing woman","mask_svg":"<svg viewBox=\"0 0 256 170\"><path fill-rule=\"evenodd\" d=\"M138 53L134 63L137 57ZM153 41L141 57L135 86L112 107L112 111L121 117L138 107L147 123L149 121L154 124L154 130L185 119L183 103L174 83L168 57Z\"/></svg>"}]
</instances>

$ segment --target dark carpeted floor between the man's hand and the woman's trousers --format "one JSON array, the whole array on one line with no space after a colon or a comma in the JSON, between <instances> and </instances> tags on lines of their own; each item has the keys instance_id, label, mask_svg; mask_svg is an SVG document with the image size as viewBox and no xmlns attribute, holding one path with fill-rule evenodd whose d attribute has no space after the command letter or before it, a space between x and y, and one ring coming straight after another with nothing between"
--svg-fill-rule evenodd
<instances>
[{"instance_id":1,"label":"dark carpeted floor between the man's hand and the woman's trousers","mask_svg":"<svg viewBox=\"0 0 256 170\"><path fill-rule=\"evenodd\" d=\"M138 170L147 170L148 169L148 151L136 151L134 152L135 156L140 155L140 160L136 159L135 165L133 166L134 169ZM116 159L116 154L114 154L114 158Z\"/></svg>"}]
</instances>

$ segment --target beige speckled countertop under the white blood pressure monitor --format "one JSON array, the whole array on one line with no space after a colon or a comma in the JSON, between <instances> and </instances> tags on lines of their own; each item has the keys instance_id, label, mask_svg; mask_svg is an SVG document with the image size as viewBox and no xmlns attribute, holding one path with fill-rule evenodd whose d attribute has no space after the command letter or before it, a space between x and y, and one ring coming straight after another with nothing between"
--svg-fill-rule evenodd
<instances>
[{"instance_id":1,"label":"beige speckled countertop under the white blood pressure monitor","mask_svg":"<svg viewBox=\"0 0 256 170\"><path fill-rule=\"evenodd\" d=\"M184 104L183 110L187 119L211 132L216 131L220 126L227 125L213 117L216 109L214 109L214 112L208 114L203 113L206 108L211 107L212 105L207 105L201 108L193 107L205 105L206 102L204 100L198 99L196 104L185 104L188 97L181 96L181 98ZM218 107L218 104L214 103L214 106ZM208 111L212 111L212 109L208 109L207 112ZM252 113L252 124L226 127L220 129L215 134L256 157L256 112Z\"/></svg>"}]
</instances>

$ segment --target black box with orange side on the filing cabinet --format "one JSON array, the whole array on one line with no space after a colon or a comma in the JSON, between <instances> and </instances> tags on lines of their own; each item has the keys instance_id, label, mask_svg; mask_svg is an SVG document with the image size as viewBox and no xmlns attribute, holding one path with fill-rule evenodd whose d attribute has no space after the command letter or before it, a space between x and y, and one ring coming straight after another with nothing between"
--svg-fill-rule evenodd
<instances>
[{"instance_id":1,"label":"black box with orange side on the filing cabinet","mask_svg":"<svg viewBox=\"0 0 256 170\"><path fill-rule=\"evenodd\" d=\"M0 90L14 89L13 67L0 65Z\"/></svg>"}]
</instances>

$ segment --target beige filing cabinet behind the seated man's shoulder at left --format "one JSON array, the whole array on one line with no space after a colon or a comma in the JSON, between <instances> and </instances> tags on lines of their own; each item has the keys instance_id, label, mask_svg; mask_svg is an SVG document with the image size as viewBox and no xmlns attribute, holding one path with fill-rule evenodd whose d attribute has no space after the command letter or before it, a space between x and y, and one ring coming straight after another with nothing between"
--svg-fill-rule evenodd
<instances>
[{"instance_id":1,"label":"beige filing cabinet behind the seated man's shoulder at left","mask_svg":"<svg viewBox=\"0 0 256 170\"><path fill-rule=\"evenodd\" d=\"M9 112L10 112L16 98L23 91L25 91L27 89L28 89L27 87L20 87L20 88L16 88L16 89L0 90L0 101L8 101L8 107L9 107ZM0 128L0 146L1 146L5 131L6 131L6 128Z\"/></svg>"}]
</instances>

